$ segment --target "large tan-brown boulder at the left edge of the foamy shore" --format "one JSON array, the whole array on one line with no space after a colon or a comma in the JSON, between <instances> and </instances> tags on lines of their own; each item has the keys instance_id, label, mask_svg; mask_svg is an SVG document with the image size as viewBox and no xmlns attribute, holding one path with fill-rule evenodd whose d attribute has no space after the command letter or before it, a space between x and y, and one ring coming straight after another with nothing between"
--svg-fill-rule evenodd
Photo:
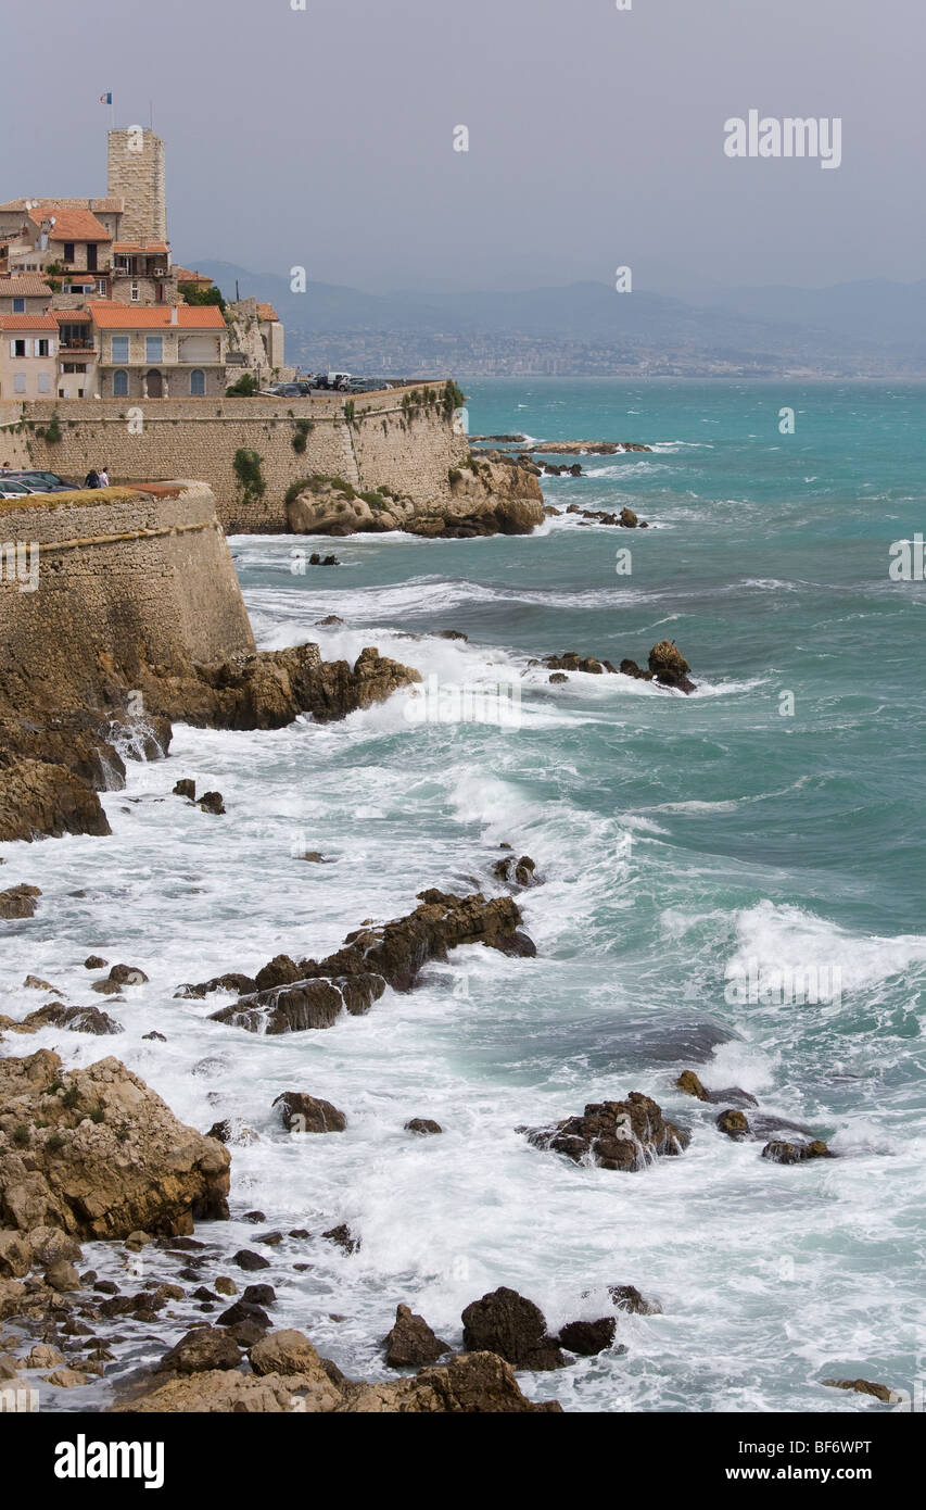
<instances>
[{"instance_id":1,"label":"large tan-brown boulder at the left edge of the foamy shore","mask_svg":"<svg viewBox=\"0 0 926 1510\"><path fill-rule=\"evenodd\" d=\"M5 1226L121 1238L228 1217L226 1149L178 1122L118 1059L68 1074L50 1049L0 1060L0 1129L18 1123L33 1129L27 1163L0 1131Z\"/></svg>"}]
</instances>

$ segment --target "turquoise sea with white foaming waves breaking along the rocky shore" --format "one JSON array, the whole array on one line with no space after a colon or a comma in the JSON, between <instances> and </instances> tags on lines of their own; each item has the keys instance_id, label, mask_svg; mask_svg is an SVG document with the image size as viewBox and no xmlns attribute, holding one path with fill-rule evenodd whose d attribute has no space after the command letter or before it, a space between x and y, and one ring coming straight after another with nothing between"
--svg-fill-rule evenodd
<instances>
[{"instance_id":1,"label":"turquoise sea with white foaming waves breaking along the rocky shore","mask_svg":"<svg viewBox=\"0 0 926 1510\"><path fill-rule=\"evenodd\" d=\"M303 575L291 538L232 539L262 646L377 645L433 686L483 687L489 716L422 720L401 695L327 728L178 729L167 763L106 797L112 840L33 847L53 921L11 935L8 975L86 991L90 948L146 969L121 1057L196 1126L235 1114L258 1134L232 1151L232 1223L207 1232L223 1262L252 1244L253 1206L267 1228L362 1238L353 1256L287 1240L261 1274L276 1323L347 1373L386 1374L403 1300L458 1345L461 1308L496 1285L557 1327L633 1284L664 1314L621 1315L626 1353L523 1376L529 1394L579 1412L885 1410L822 1380L923 1379L926 586L888 568L926 527L926 390L463 387L474 433L653 445L544 480L557 507L629 504L650 528L563 515L529 538L354 538ZM342 627L317 628L330 613ZM645 663L665 637L689 698L608 675L550 686L529 664ZM519 717L493 722L505 680ZM157 800L178 776L219 787L228 818ZM457 951L366 1018L285 1039L210 1022L217 998L173 1000L281 950L318 956L424 886L492 889L501 843L544 880L522 897L532 960ZM801 989L814 978L822 1000ZM166 1045L142 1037L154 1015ZM787 1167L730 1142L721 1107L676 1089L683 1069L839 1158ZM288 1139L270 1110L285 1089L342 1107L347 1132ZM683 1157L621 1175L514 1132L630 1090L692 1131ZM443 1136L410 1139L410 1116Z\"/></svg>"}]
</instances>

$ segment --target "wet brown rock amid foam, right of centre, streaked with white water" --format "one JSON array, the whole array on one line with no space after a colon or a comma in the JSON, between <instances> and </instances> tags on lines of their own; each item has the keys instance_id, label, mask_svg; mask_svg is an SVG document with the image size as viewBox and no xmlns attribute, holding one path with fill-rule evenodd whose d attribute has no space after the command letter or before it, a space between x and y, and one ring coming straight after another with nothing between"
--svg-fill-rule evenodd
<instances>
[{"instance_id":1,"label":"wet brown rock amid foam, right of centre, streaked with white water","mask_svg":"<svg viewBox=\"0 0 926 1510\"><path fill-rule=\"evenodd\" d=\"M644 1169L658 1157L680 1154L691 1142L649 1096L632 1090L626 1101L603 1101L585 1107L582 1116L566 1117L546 1128L519 1128L534 1148L564 1154L576 1164L590 1161L603 1169Z\"/></svg>"}]
</instances>

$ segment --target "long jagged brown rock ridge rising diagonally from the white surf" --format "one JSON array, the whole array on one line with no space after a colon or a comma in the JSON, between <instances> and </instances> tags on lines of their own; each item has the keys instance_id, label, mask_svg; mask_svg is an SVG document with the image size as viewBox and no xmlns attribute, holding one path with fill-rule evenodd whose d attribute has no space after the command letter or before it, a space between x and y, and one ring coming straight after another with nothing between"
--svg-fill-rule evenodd
<instances>
[{"instance_id":1,"label":"long jagged brown rock ridge rising diagonally from the white surf","mask_svg":"<svg viewBox=\"0 0 926 1510\"><path fill-rule=\"evenodd\" d=\"M267 1034L329 1028L342 1012L354 1016L368 1012L386 986L410 991L424 965L446 960L448 950L463 944L486 944L504 954L537 953L519 929L522 917L511 897L487 900L481 892L455 897L436 889L418 897L421 906L407 917L356 929L327 959L303 959L296 965L288 956L277 956L264 966L268 978L296 971L297 980L240 997L214 1012L213 1019ZM199 995L205 986L181 991Z\"/></svg>"}]
</instances>

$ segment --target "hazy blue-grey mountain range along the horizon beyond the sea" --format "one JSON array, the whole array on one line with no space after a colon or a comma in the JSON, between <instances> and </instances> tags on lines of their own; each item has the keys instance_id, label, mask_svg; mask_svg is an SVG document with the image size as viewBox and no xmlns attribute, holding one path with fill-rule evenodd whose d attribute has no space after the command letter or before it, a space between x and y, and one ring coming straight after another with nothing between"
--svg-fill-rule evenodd
<instances>
[{"instance_id":1,"label":"hazy blue-grey mountain range along the horizon beyond the sea","mask_svg":"<svg viewBox=\"0 0 926 1510\"><path fill-rule=\"evenodd\" d=\"M371 294L204 261L226 297L271 302L287 326L288 361L351 370L617 371L683 374L811 371L926 376L926 281L832 288L712 288L697 305L612 287L504 293L401 290Z\"/></svg>"}]
</instances>

